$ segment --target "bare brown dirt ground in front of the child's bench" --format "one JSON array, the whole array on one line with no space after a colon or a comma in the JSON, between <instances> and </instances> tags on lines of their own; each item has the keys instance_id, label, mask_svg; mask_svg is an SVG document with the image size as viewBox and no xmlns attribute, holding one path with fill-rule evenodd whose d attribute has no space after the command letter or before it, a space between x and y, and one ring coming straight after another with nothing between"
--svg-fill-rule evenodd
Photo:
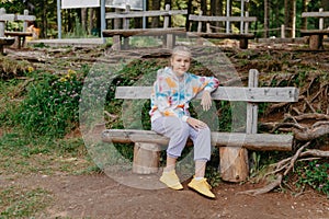
<instances>
[{"instance_id":1,"label":"bare brown dirt ground in front of the child's bench","mask_svg":"<svg viewBox=\"0 0 329 219\"><path fill-rule=\"evenodd\" d=\"M298 196L290 192L237 194L261 186L257 184L220 183L213 189L216 199L207 199L189 189L186 183L183 191L138 189L105 174L25 175L1 181L2 186L14 184L50 192L52 205L36 218L329 218L328 199L311 191Z\"/></svg>"}]
</instances>

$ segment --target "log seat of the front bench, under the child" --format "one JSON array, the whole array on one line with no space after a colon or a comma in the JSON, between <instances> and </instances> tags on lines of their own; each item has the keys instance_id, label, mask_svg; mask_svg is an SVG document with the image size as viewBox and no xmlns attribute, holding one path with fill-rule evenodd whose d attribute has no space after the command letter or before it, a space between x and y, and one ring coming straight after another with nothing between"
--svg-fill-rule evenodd
<instances>
[{"instance_id":1,"label":"log seat of the front bench, under the child","mask_svg":"<svg viewBox=\"0 0 329 219\"><path fill-rule=\"evenodd\" d=\"M167 146L169 138L151 130L137 129L106 129L102 134L104 142L149 142ZM243 147L260 151L291 151L293 136L272 134L243 132L212 132L212 143L218 147Z\"/></svg>"}]
</instances>

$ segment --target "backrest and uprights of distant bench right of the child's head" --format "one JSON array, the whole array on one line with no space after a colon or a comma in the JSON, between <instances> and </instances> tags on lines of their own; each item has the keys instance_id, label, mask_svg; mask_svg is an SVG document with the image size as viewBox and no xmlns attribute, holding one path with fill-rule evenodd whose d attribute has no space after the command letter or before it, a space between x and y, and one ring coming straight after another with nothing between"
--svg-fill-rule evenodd
<instances>
[{"instance_id":1,"label":"backrest and uprights of distant bench right of the child's head","mask_svg":"<svg viewBox=\"0 0 329 219\"><path fill-rule=\"evenodd\" d=\"M230 25L230 22L240 22L240 26L245 26L245 30L240 28L240 32L245 32L246 34L249 32L249 23L256 22L256 16L249 16L248 12L246 12L246 16L208 16L202 15L200 12L198 15L190 14L189 21L196 21L197 23L197 32L202 31L203 22L207 25L207 32L209 31L209 22L225 22L226 25Z\"/></svg>"}]
</instances>

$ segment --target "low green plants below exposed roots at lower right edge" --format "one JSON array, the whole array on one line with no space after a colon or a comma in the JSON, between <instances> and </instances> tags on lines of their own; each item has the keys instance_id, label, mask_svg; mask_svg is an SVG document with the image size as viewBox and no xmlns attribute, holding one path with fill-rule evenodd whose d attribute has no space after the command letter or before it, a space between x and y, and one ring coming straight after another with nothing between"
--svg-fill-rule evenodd
<instances>
[{"instance_id":1,"label":"low green plants below exposed roots at lower right edge","mask_svg":"<svg viewBox=\"0 0 329 219\"><path fill-rule=\"evenodd\" d=\"M329 163L326 161L309 161L300 164L296 172L298 174L298 186L308 185L314 189L329 196Z\"/></svg>"}]
</instances>

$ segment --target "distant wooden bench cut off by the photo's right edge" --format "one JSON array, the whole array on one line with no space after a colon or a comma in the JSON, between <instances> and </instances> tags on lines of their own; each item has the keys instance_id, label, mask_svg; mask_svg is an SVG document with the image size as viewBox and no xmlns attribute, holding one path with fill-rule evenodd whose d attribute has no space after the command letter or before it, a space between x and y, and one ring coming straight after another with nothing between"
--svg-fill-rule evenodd
<instances>
[{"instance_id":1,"label":"distant wooden bench cut off by the photo's right edge","mask_svg":"<svg viewBox=\"0 0 329 219\"><path fill-rule=\"evenodd\" d=\"M324 11L319 9L319 12L303 12L302 18L318 18L319 28L318 30L300 30L302 36L309 36L309 48L320 49L324 48L324 36L329 36L329 28L325 28L324 19L329 18L329 11Z\"/></svg>"}]
</instances>

